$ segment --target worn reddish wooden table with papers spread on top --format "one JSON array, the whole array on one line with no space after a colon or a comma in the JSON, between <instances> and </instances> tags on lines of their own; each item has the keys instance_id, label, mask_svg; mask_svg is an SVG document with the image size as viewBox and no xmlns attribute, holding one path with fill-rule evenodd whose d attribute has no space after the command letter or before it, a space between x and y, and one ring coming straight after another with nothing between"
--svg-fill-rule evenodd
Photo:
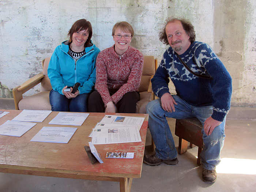
<instances>
[{"instance_id":1,"label":"worn reddish wooden table with papers spread on top","mask_svg":"<svg viewBox=\"0 0 256 192\"><path fill-rule=\"evenodd\" d=\"M21 110L8 111L0 118L0 125L12 120ZM42 123L37 123L21 137L0 135L0 172L29 174L49 177L77 178L120 182L120 191L130 191L132 178L140 178L148 114L119 114L122 116L145 117L140 129L142 142L95 145L104 163L91 164L84 146L89 146L91 129L105 116L105 113L90 113L82 126L49 125L59 112L52 112ZM110 113L109 113L110 114ZM114 113L112 113L114 114ZM67 144L30 142L44 126L77 127ZM105 158L106 152L134 152L133 159Z\"/></svg>"}]
</instances>

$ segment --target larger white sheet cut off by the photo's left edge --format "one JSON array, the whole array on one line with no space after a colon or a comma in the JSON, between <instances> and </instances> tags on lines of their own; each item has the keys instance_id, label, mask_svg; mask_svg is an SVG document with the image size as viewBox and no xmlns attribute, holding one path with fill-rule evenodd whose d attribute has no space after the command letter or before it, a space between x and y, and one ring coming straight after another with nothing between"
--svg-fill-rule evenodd
<instances>
[{"instance_id":1,"label":"larger white sheet cut off by the photo's left edge","mask_svg":"<svg viewBox=\"0 0 256 192\"><path fill-rule=\"evenodd\" d=\"M0 125L0 135L20 137L35 125L36 123L8 120L3 125Z\"/></svg>"}]
</instances>

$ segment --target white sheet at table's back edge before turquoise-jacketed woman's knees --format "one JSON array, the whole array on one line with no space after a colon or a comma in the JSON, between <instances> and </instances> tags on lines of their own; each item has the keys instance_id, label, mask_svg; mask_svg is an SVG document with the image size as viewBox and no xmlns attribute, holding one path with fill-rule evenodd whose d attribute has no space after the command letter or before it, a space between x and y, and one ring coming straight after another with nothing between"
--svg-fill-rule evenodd
<instances>
[{"instance_id":1,"label":"white sheet at table's back edge before turquoise-jacketed woman's knees","mask_svg":"<svg viewBox=\"0 0 256 192\"><path fill-rule=\"evenodd\" d=\"M54 125L75 125L81 126L89 113L63 113L60 112L54 117L49 124Z\"/></svg>"}]
</instances>

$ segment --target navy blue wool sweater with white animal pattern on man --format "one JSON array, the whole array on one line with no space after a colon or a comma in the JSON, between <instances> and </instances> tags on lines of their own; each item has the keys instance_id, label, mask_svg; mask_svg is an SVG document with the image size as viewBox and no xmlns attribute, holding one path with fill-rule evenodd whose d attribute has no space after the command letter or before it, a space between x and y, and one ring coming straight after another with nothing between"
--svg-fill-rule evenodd
<instances>
[{"instance_id":1,"label":"navy blue wool sweater with white animal pattern on man","mask_svg":"<svg viewBox=\"0 0 256 192\"><path fill-rule=\"evenodd\" d=\"M211 117L223 121L230 109L232 93L232 79L225 66L211 47L202 42L193 42L180 57L193 72L212 78L209 80L191 74L169 47L151 80L155 95L161 98L169 93L170 77L181 99L192 106L212 105Z\"/></svg>"}]
</instances>

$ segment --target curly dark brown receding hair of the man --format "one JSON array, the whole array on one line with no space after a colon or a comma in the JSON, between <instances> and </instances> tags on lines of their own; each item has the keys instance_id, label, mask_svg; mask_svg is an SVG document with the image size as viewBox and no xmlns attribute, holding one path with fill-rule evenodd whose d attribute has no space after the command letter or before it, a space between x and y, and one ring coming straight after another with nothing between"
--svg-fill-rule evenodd
<instances>
[{"instance_id":1,"label":"curly dark brown receding hair of the man","mask_svg":"<svg viewBox=\"0 0 256 192\"><path fill-rule=\"evenodd\" d=\"M187 19L176 19L176 18L168 18L165 21L165 27L168 23L172 23L174 21L180 21L183 29L186 31L187 35L189 36L189 41L193 43L196 40L196 33L194 30L194 26L189 22ZM159 39L163 44L169 45L168 38L165 32L165 27L159 33Z\"/></svg>"}]
</instances>

